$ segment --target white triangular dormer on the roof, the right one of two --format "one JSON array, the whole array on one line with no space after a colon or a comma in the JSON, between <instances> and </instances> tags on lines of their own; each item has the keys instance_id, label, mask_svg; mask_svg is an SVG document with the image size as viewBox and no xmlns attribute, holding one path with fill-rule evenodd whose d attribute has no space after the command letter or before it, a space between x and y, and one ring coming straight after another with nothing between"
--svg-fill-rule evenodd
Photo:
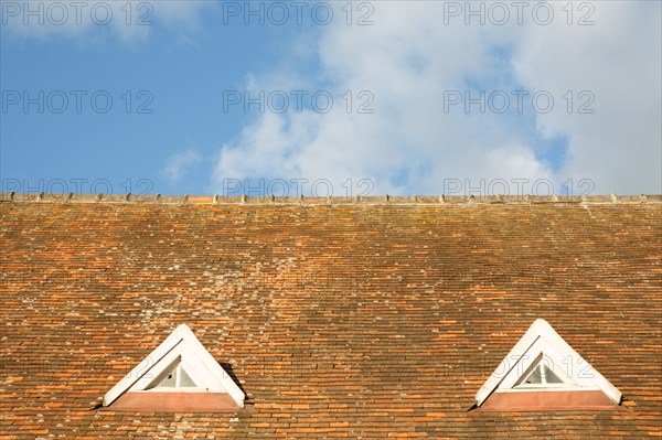
<instances>
[{"instance_id":1,"label":"white triangular dormer on the roof, the right one of two","mask_svg":"<svg viewBox=\"0 0 662 440\"><path fill-rule=\"evenodd\" d=\"M545 320L535 320L476 394L492 410L611 409L621 393Z\"/></svg>"}]
</instances>

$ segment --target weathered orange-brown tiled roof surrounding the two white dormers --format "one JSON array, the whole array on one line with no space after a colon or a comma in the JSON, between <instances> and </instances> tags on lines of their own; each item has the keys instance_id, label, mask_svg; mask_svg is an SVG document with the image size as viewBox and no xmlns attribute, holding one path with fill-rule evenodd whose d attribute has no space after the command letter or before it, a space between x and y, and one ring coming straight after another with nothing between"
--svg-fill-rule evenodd
<instances>
[{"instance_id":1,"label":"weathered orange-brown tiled roof surrounding the two white dormers","mask_svg":"<svg viewBox=\"0 0 662 440\"><path fill-rule=\"evenodd\" d=\"M662 434L660 196L0 200L3 439ZM536 318L621 407L469 410ZM99 409L180 323L246 408Z\"/></svg>"}]
</instances>

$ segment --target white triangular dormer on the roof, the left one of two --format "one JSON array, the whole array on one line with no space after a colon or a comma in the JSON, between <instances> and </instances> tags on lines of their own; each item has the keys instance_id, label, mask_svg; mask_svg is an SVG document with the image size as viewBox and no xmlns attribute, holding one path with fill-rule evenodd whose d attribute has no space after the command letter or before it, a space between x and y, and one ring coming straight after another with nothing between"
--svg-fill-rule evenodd
<instances>
[{"instance_id":1,"label":"white triangular dormer on the roof, the left one of two","mask_svg":"<svg viewBox=\"0 0 662 440\"><path fill-rule=\"evenodd\" d=\"M104 396L118 411L232 412L245 394L200 343L179 325Z\"/></svg>"}]
</instances>

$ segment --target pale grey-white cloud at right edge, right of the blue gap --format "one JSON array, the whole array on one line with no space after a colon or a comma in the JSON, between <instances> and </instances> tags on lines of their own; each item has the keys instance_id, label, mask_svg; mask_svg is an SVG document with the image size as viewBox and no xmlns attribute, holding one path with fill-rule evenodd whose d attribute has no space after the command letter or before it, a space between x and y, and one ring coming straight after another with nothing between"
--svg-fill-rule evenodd
<instances>
[{"instance_id":1,"label":"pale grey-white cloud at right edge, right of the blue gap","mask_svg":"<svg viewBox=\"0 0 662 440\"><path fill-rule=\"evenodd\" d=\"M660 6L596 3L594 25L528 29L519 44L515 72L526 87L574 95L570 114L559 101L563 111L537 121L543 135L569 138L560 175L589 179L604 193L662 191ZM591 98L595 114L578 114Z\"/></svg>"}]
</instances>

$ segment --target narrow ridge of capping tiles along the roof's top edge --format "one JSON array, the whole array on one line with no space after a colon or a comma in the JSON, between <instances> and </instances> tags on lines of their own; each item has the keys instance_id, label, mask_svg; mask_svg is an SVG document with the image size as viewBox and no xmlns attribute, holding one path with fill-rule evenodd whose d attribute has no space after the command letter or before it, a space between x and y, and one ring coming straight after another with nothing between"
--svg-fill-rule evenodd
<instances>
[{"instance_id":1,"label":"narrow ridge of capping tiles along the roof's top edge","mask_svg":"<svg viewBox=\"0 0 662 440\"><path fill-rule=\"evenodd\" d=\"M0 193L0 203L150 203L166 205L484 205L484 204L662 204L660 194L641 195L409 195L409 196L331 196L306 197L274 195L135 195L135 194L56 194L56 193Z\"/></svg>"}]
</instances>

